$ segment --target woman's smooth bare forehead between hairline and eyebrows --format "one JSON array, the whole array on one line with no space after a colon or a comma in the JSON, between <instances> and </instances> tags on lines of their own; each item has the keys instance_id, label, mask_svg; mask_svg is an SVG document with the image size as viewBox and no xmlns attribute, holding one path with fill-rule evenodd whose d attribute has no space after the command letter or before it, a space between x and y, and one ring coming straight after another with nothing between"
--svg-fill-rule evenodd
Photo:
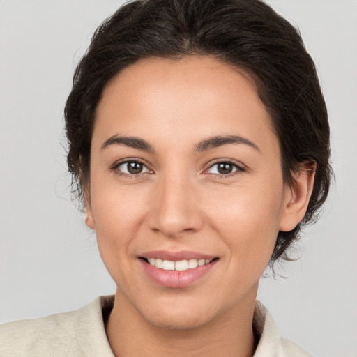
<instances>
[{"instance_id":1,"label":"woman's smooth bare forehead between hairline and eyebrows","mask_svg":"<svg viewBox=\"0 0 357 357\"><path fill-rule=\"evenodd\" d=\"M114 134L182 143L213 135L275 139L250 77L210 56L124 68L103 91L93 139Z\"/></svg>"}]
</instances>

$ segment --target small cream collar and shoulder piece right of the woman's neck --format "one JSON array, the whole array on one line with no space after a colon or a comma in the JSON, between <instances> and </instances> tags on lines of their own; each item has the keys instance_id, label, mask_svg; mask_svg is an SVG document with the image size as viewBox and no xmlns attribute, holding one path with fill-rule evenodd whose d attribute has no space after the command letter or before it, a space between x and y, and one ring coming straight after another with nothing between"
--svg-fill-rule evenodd
<instances>
[{"instance_id":1,"label":"small cream collar and shoulder piece right of the woman's neck","mask_svg":"<svg viewBox=\"0 0 357 357\"><path fill-rule=\"evenodd\" d=\"M294 342L280 336L273 317L260 301L255 303L253 327L259 335L254 357L312 357Z\"/></svg>"}]
</instances>

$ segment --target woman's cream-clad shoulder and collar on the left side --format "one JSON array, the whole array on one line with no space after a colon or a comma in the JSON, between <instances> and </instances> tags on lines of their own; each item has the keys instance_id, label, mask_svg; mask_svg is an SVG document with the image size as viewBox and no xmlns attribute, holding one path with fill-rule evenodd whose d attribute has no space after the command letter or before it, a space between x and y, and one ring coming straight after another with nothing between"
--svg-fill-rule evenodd
<instances>
[{"instance_id":1,"label":"woman's cream-clad shoulder and collar on the left side","mask_svg":"<svg viewBox=\"0 0 357 357\"><path fill-rule=\"evenodd\" d=\"M107 301L102 296L77 311L0 325L0 356L77 357L86 356L85 350L92 347L109 348L103 302Z\"/></svg>"}]
</instances>

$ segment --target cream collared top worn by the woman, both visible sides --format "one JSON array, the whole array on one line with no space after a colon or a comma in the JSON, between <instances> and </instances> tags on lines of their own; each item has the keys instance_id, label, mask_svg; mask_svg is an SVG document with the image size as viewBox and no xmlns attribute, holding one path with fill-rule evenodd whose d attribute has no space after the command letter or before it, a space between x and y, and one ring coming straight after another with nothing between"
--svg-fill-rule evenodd
<instances>
[{"instance_id":1,"label":"cream collared top worn by the woman, both visible sides","mask_svg":"<svg viewBox=\"0 0 357 357\"><path fill-rule=\"evenodd\" d=\"M102 319L102 310L113 303L114 296L100 296L77 311L3 324L0 357L114 357ZM260 335L254 357L310 356L280 337L271 314L259 301L254 325Z\"/></svg>"}]
</instances>

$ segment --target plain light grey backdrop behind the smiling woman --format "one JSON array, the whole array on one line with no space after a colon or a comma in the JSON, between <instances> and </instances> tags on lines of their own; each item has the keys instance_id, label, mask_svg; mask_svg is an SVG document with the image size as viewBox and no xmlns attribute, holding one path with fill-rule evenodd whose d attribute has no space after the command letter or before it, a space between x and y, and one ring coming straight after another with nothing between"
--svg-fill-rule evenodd
<instances>
[{"instance_id":1,"label":"plain light grey backdrop behind the smiling woman","mask_svg":"<svg viewBox=\"0 0 357 357\"><path fill-rule=\"evenodd\" d=\"M0 1L0 322L113 294L71 201L63 105L91 34L123 1ZM357 1L271 0L298 26L331 122L336 184L301 259L261 280L283 336L315 356L357 356Z\"/></svg>"}]
</instances>

